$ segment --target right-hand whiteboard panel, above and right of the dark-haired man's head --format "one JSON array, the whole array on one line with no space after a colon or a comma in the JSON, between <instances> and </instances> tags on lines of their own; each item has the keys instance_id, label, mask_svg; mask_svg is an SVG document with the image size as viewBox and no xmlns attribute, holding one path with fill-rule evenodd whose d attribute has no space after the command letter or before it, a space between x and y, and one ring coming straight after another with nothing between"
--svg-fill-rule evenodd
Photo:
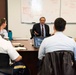
<instances>
[{"instance_id":1,"label":"right-hand whiteboard panel, above and right of the dark-haired man's head","mask_svg":"<svg viewBox=\"0 0 76 75\"><path fill-rule=\"evenodd\" d=\"M76 0L61 0L61 17L68 23L76 23Z\"/></svg>"}]
</instances>

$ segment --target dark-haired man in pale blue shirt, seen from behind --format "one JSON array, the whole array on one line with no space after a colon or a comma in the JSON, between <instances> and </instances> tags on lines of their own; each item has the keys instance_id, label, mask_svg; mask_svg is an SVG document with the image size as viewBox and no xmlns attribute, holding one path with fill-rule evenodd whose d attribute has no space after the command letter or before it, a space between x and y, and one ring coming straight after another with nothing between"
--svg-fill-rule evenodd
<instances>
[{"instance_id":1,"label":"dark-haired man in pale blue shirt, seen from behind","mask_svg":"<svg viewBox=\"0 0 76 75\"><path fill-rule=\"evenodd\" d=\"M66 21L63 18L57 18L54 22L54 35L45 38L40 46L38 58L42 60L48 52L70 50L75 54L76 60L76 43L72 38L63 34L66 28Z\"/></svg>"}]
</instances>

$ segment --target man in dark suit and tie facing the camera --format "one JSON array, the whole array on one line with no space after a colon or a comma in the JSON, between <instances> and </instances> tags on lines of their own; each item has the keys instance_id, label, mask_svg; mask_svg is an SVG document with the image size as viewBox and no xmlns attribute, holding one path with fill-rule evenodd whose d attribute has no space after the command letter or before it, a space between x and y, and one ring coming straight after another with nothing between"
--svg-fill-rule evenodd
<instances>
[{"instance_id":1,"label":"man in dark suit and tie facing the camera","mask_svg":"<svg viewBox=\"0 0 76 75\"><path fill-rule=\"evenodd\" d=\"M45 17L40 18L40 23L37 23L32 28L32 37L39 36L39 37L48 37L51 34L49 33L49 26L45 24Z\"/></svg>"}]
</instances>

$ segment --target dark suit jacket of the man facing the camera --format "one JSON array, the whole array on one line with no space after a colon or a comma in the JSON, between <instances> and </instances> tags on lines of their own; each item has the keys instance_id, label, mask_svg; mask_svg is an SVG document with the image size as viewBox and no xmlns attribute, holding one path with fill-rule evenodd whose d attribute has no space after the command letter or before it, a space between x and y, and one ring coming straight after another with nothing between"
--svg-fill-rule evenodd
<instances>
[{"instance_id":1,"label":"dark suit jacket of the man facing the camera","mask_svg":"<svg viewBox=\"0 0 76 75\"><path fill-rule=\"evenodd\" d=\"M36 31L38 33L38 35L34 34L34 31ZM49 34L49 26L45 24L45 33L46 33L46 37L50 36ZM40 27L40 23L37 23L33 26L32 29L32 38L34 36L41 36L41 27Z\"/></svg>"}]
</instances>

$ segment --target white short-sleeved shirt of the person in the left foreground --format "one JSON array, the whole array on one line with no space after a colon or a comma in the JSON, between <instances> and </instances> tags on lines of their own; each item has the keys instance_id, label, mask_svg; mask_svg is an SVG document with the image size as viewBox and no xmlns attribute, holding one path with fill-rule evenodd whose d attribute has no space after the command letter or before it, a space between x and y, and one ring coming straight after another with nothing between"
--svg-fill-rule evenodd
<instances>
[{"instance_id":1,"label":"white short-sleeved shirt of the person in the left foreground","mask_svg":"<svg viewBox=\"0 0 76 75\"><path fill-rule=\"evenodd\" d=\"M0 53L8 54L12 60L15 60L19 56L18 52L12 46L11 42L3 39L1 36L0 36Z\"/></svg>"}]
</instances>

